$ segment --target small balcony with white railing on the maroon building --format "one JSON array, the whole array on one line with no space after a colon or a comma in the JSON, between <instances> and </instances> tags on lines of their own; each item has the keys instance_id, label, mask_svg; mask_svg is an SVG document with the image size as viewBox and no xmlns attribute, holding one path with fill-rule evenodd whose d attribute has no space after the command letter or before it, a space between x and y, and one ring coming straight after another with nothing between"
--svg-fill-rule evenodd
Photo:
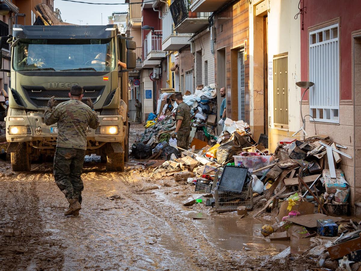
<instances>
[{"instance_id":1,"label":"small balcony with white railing on the maroon building","mask_svg":"<svg viewBox=\"0 0 361 271\"><path fill-rule=\"evenodd\" d=\"M143 41L143 68L151 68L159 64L158 60L166 56L162 51L162 30L149 31Z\"/></svg>"}]
</instances>

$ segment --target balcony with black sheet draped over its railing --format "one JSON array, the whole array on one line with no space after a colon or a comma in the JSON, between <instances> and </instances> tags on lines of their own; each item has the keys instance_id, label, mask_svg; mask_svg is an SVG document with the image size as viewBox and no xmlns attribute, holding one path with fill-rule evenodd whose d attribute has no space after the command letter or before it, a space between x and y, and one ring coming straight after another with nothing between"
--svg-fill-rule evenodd
<instances>
[{"instance_id":1,"label":"balcony with black sheet draped over its railing","mask_svg":"<svg viewBox=\"0 0 361 271\"><path fill-rule=\"evenodd\" d=\"M178 33L197 33L209 25L212 12L191 12L188 0L174 0L169 7ZM189 11L188 11L189 10Z\"/></svg>"}]
</instances>

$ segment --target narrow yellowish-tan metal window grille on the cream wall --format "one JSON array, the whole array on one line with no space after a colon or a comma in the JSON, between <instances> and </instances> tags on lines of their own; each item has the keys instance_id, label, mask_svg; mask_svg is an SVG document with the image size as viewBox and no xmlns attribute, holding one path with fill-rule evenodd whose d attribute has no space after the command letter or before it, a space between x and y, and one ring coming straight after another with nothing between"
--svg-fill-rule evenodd
<instances>
[{"instance_id":1,"label":"narrow yellowish-tan metal window grille on the cream wall","mask_svg":"<svg viewBox=\"0 0 361 271\"><path fill-rule=\"evenodd\" d=\"M274 125L288 125L288 55L273 58Z\"/></svg>"}]
</instances>

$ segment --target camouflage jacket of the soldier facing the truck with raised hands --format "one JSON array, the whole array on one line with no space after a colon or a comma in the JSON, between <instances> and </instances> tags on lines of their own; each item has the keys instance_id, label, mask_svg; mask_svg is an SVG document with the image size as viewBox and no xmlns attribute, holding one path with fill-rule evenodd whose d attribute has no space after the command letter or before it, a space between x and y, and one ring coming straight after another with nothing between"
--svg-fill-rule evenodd
<instances>
[{"instance_id":1,"label":"camouflage jacket of the soldier facing the truck with raised hands","mask_svg":"<svg viewBox=\"0 0 361 271\"><path fill-rule=\"evenodd\" d=\"M99 118L79 100L69 100L44 112L46 125L58 124L57 147L87 149L87 127L96 129Z\"/></svg>"}]
</instances>

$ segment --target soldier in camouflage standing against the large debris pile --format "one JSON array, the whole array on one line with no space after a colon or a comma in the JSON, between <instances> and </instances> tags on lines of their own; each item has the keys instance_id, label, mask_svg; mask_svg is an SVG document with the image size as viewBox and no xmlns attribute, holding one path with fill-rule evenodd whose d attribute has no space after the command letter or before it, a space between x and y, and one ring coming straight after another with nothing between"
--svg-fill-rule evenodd
<instances>
[{"instance_id":1,"label":"soldier in camouflage standing against the large debris pile","mask_svg":"<svg viewBox=\"0 0 361 271\"><path fill-rule=\"evenodd\" d=\"M183 102L181 93L175 94L175 100L178 104L177 111L175 112L177 146L188 150L189 135L191 133L191 108Z\"/></svg>"}]
</instances>

